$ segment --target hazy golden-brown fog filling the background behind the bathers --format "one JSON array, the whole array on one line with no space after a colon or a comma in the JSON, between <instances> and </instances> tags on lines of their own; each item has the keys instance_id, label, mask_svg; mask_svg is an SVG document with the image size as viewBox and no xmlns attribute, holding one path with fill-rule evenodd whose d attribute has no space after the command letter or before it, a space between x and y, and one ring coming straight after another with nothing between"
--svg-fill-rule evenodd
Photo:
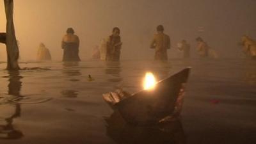
<instances>
[{"instance_id":1,"label":"hazy golden-brown fog filling the background behind the bathers","mask_svg":"<svg viewBox=\"0 0 256 144\"><path fill-rule=\"evenodd\" d=\"M121 29L122 60L153 59L149 43L156 26L163 24L170 35L169 58L180 58L176 45L182 39L191 44L196 58L195 38L204 40L221 58L239 58L242 35L256 38L256 1L254 0L14 0L14 21L20 44L20 60L36 59L43 42L52 59L62 57L61 38L68 27L81 41L80 57L88 60L101 38L111 35L112 28ZM5 31L4 3L0 3L0 31ZM198 31L204 27L204 32ZM5 45L0 44L0 60L6 60Z\"/></svg>"}]
</instances>

